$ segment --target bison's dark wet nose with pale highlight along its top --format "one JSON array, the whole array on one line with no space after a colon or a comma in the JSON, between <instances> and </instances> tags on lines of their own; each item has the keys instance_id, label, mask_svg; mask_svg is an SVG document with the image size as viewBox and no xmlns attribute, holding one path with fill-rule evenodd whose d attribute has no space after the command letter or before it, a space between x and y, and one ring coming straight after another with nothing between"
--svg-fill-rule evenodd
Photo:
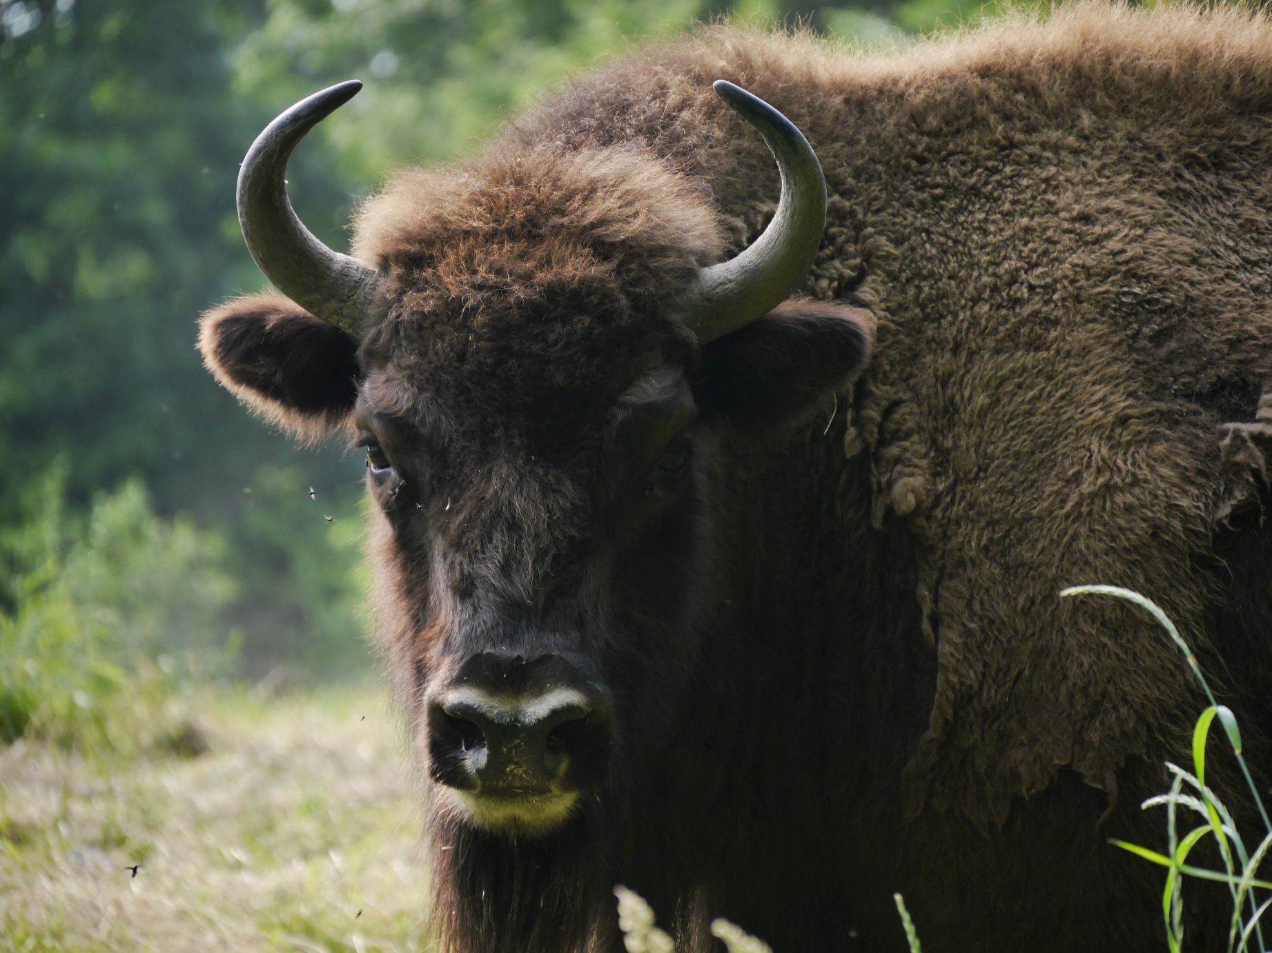
<instances>
[{"instance_id":1,"label":"bison's dark wet nose with pale highlight along its top","mask_svg":"<svg viewBox=\"0 0 1272 953\"><path fill-rule=\"evenodd\" d=\"M608 761L608 708L572 687L511 696L463 685L430 704L429 754L435 781L474 794L588 790Z\"/></svg>"}]
</instances>

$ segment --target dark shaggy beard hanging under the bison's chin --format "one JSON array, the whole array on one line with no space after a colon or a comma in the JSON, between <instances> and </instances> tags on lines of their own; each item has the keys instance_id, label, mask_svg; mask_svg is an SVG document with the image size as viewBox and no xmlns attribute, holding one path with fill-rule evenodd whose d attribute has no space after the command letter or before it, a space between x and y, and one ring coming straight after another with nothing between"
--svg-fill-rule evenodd
<instances>
[{"instance_id":1,"label":"dark shaggy beard hanging under the bison's chin","mask_svg":"<svg viewBox=\"0 0 1272 953\"><path fill-rule=\"evenodd\" d=\"M432 934L446 953L617 947L605 809L586 798L560 828L494 834L430 809Z\"/></svg>"}]
</instances>

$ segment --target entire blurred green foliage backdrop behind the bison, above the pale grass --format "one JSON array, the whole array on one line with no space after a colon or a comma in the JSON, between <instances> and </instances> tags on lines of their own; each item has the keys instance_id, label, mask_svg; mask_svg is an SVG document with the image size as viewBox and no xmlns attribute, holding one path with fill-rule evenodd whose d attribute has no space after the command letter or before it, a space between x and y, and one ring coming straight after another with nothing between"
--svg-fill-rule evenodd
<instances>
[{"instance_id":1,"label":"entire blurred green foliage backdrop behind the bison, above the pale grass","mask_svg":"<svg viewBox=\"0 0 1272 953\"><path fill-rule=\"evenodd\" d=\"M388 169L476 150L565 76L641 38L734 15L873 42L979 10L957 0L0 0L6 733L53 709L70 718L76 698L144 658L224 659L237 644L235 671L253 679L369 667L360 459L268 432L193 348L202 309L263 285L234 219L234 179L282 108L350 76L368 81L289 174L301 217L342 248L351 205ZM41 693L55 699L43 714Z\"/></svg>"}]
</instances>

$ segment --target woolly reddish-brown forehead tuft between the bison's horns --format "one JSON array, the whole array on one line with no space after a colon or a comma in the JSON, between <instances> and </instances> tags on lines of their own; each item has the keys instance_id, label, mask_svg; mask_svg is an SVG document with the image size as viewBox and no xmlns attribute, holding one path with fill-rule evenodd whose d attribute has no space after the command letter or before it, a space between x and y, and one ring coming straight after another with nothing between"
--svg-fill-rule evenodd
<instances>
[{"instance_id":1,"label":"woolly reddish-brown forehead tuft between the bison's horns","mask_svg":"<svg viewBox=\"0 0 1272 953\"><path fill-rule=\"evenodd\" d=\"M701 184L647 154L541 147L399 174L355 250L384 276L369 363L541 416L604 402L683 337L679 297L722 244Z\"/></svg>"}]
</instances>

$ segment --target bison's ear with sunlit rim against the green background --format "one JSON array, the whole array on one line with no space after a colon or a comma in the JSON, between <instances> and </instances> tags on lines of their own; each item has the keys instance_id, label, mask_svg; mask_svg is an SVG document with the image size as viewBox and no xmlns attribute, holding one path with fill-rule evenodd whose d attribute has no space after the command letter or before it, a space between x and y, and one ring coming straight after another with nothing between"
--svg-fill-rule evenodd
<instances>
[{"instance_id":1,"label":"bison's ear with sunlit rim against the green background","mask_svg":"<svg viewBox=\"0 0 1272 953\"><path fill-rule=\"evenodd\" d=\"M281 295L237 297L206 311L198 349L221 386L305 441L343 424L357 398L357 344Z\"/></svg>"}]
</instances>

